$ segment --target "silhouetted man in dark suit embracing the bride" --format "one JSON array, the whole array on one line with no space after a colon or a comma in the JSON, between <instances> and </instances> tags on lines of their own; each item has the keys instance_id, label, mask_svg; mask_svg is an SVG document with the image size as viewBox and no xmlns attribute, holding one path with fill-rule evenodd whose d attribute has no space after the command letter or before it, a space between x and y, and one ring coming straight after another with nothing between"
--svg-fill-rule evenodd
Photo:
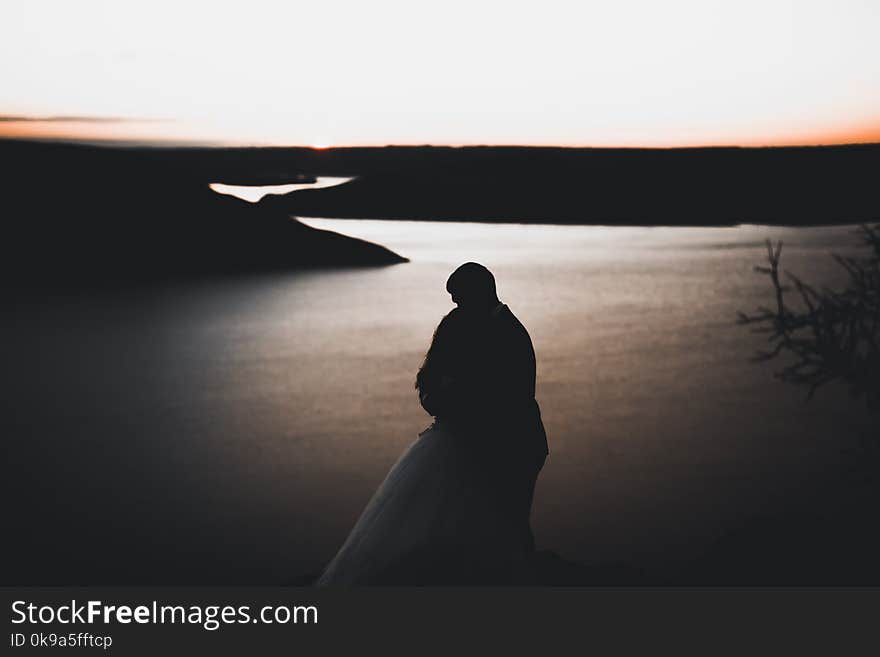
<instances>
[{"instance_id":1,"label":"silhouetted man in dark suit embracing the bride","mask_svg":"<svg viewBox=\"0 0 880 657\"><path fill-rule=\"evenodd\" d=\"M498 300L495 277L468 262L446 290L456 304L437 326L416 378L422 407L467 435L494 473L505 508L534 550L529 515L547 437L535 401L535 351L525 327Z\"/></svg>"}]
</instances>

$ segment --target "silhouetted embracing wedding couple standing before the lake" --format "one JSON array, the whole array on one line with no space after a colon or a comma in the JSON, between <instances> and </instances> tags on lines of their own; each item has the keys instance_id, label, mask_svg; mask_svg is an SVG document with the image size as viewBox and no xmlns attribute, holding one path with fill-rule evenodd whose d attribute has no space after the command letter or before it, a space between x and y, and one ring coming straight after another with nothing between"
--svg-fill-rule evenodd
<instances>
[{"instance_id":1,"label":"silhouetted embracing wedding couple standing before the lake","mask_svg":"<svg viewBox=\"0 0 880 657\"><path fill-rule=\"evenodd\" d=\"M446 283L457 305L416 377L434 423L398 459L319 585L492 584L528 578L547 438L535 352L477 263Z\"/></svg>"}]
</instances>

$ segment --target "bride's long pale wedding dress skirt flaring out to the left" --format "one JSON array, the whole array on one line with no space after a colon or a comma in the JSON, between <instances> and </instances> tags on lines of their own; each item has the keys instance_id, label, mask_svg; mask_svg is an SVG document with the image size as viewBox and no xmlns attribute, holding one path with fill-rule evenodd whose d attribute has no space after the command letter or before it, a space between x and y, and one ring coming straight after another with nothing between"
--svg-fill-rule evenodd
<instances>
[{"instance_id":1,"label":"bride's long pale wedding dress skirt flaring out to the left","mask_svg":"<svg viewBox=\"0 0 880 657\"><path fill-rule=\"evenodd\" d=\"M391 468L317 586L487 584L526 564L504 486L466 437L437 424Z\"/></svg>"}]
</instances>

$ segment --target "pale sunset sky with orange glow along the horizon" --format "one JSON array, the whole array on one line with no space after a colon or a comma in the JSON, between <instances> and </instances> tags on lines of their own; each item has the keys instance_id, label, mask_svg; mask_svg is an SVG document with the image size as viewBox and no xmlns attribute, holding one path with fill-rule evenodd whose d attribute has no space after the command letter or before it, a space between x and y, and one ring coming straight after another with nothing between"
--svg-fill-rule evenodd
<instances>
[{"instance_id":1,"label":"pale sunset sky with orange glow along the horizon","mask_svg":"<svg viewBox=\"0 0 880 657\"><path fill-rule=\"evenodd\" d=\"M880 141L880 0L3 0L2 9L0 135Z\"/></svg>"}]
</instances>

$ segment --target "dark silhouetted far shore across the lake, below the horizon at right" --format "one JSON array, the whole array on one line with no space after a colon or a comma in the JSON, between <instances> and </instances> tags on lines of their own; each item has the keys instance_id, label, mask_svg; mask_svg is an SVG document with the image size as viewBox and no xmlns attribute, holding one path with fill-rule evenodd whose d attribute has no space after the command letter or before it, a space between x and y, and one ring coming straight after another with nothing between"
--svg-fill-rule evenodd
<instances>
[{"instance_id":1,"label":"dark silhouetted far shore across the lake, below the horizon at right","mask_svg":"<svg viewBox=\"0 0 880 657\"><path fill-rule=\"evenodd\" d=\"M880 217L880 146L335 149L338 187L266 197L303 216L607 225L819 225Z\"/></svg>"}]
</instances>

